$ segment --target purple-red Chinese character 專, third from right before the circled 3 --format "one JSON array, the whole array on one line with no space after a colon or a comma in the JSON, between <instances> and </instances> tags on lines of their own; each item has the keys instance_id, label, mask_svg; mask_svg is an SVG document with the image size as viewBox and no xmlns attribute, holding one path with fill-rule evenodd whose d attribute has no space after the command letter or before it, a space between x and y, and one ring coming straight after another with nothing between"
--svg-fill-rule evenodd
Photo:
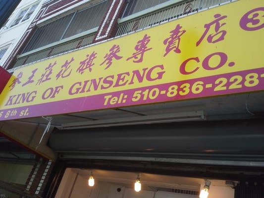
<instances>
[{"instance_id":1,"label":"purple-red Chinese character \u5c08, third from right before the circled 3","mask_svg":"<svg viewBox=\"0 0 264 198\"><path fill-rule=\"evenodd\" d=\"M136 52L133 53L133 55L126 60L130 60L131 58L134 58L136 60L133 60L133 62L138 63L143 61L143 55L146 51L151 50L152 48L148 48L147 45L150 43L150 36L145 34L142 40L139 40L137 42L137 45L135 46Z\"/></svg>"}]
</instances>

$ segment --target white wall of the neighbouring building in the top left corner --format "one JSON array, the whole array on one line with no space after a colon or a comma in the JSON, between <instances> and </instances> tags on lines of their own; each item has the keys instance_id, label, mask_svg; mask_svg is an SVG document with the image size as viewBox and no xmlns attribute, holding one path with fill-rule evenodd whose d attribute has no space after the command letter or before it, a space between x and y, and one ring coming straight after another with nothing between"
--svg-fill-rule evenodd
<instances>
[{"instance_id":1,"label":"white wall of the neighbouring building in the top left corner","mask_svg":"<svg viewBox=\"0 0 264 198\"><path fill-rule=\"evenodd\" d=\"M9 48L5 52L4 56L0 59L0 66L2 66L2 64L5 62L8 55L15 48L16 44L21 39L22 35L27 30L28 26L31 24L34 17L37 15L38 11L41 8L42 1L43 0L21 0L21 2L16 7L14 12L11 14L9 21L6 24L7 27L9 27L11 25L11 23L17 17L17 15L19 14L21 9L26 8L26 7L32 5L36 2L40 2L40 3L38 5L37 9L34 11L34 13L31 15L31 17L28 20L23 21L23 22L15 25L11 28L6 29L5 27L2 27L0 29L0 49L5 47L5 46L9 46Z\"/></svg>"}]
</instances>

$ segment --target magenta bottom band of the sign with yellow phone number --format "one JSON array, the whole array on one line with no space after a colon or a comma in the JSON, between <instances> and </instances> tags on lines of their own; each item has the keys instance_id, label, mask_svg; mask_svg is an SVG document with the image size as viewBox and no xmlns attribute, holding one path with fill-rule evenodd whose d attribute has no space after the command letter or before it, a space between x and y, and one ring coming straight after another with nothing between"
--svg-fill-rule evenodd
<instances>
[{"instance_id":1,"label":"magenta bottom band of the sign with yellow phone number","mask_svg":"<svg viewBox=\"0 0 264 198\"><path fill-rule=\"evenodd\" d=\"M197 78L76 99L47 102L0 112L0 120L39 117L106 108L204 98L264 90L264 68Z\"/></svg>"}]
</instances>

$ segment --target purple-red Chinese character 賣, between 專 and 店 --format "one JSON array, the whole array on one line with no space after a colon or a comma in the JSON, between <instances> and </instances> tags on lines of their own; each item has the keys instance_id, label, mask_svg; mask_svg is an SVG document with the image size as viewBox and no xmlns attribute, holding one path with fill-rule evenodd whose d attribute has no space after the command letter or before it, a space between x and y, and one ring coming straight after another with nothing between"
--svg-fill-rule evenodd
<instances>
[{"instance_id":1,"label":"purple-red Chinese character \u8ce3, between \u5c08 and \u5e97","mask_svg":"<svg viewBox=\"0 0 264 198\"><path fill-rule=\"evenodd\" d=\"M176 25L175 29L170 32L169 38L163 41L163 44L167 45L163 56L166 56L172 49L176 53L181 52L179 49L181 36L186 32L186 30L181 31L181 28L180 24Z\"/></svg>"}]
</instances>

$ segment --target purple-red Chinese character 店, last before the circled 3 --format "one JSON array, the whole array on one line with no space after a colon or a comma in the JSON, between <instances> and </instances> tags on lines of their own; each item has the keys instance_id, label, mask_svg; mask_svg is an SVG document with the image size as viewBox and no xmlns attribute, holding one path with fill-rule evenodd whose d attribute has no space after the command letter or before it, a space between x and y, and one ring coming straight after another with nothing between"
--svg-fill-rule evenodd
<instances>
[{"instance_id":1,"label":"purple-red Chinese character \u5e97, last before the circled 3","mask_svg":"<svg viewBox=\"0 0 264 198\"><path fill-rule=\"evenodd\" d=\"M202 35L202 37L200 38L200 40L196 43L196 46L199 46L200 43L203 41L203 39L206 37L207 33L209 32L210 28L212 25L215 25L214 26L214 31L215 31L215 34L210 34L208 37L207 37L207 41L208 43L217 43L218 41L222 41L224 40L224 36L226 35L226 31L225 30L221 30L219 31L219 29L224 26L226 23L222 23L220 24L220 20L226 18L227 16L221 16L221 14L215 14L214 15L214 18L215 20L213 20L211 23L208 23L208 24L205 24L205 32L204 34ZM215 38L216 37L216 38Z\"/></svg>"}]
</instances>

